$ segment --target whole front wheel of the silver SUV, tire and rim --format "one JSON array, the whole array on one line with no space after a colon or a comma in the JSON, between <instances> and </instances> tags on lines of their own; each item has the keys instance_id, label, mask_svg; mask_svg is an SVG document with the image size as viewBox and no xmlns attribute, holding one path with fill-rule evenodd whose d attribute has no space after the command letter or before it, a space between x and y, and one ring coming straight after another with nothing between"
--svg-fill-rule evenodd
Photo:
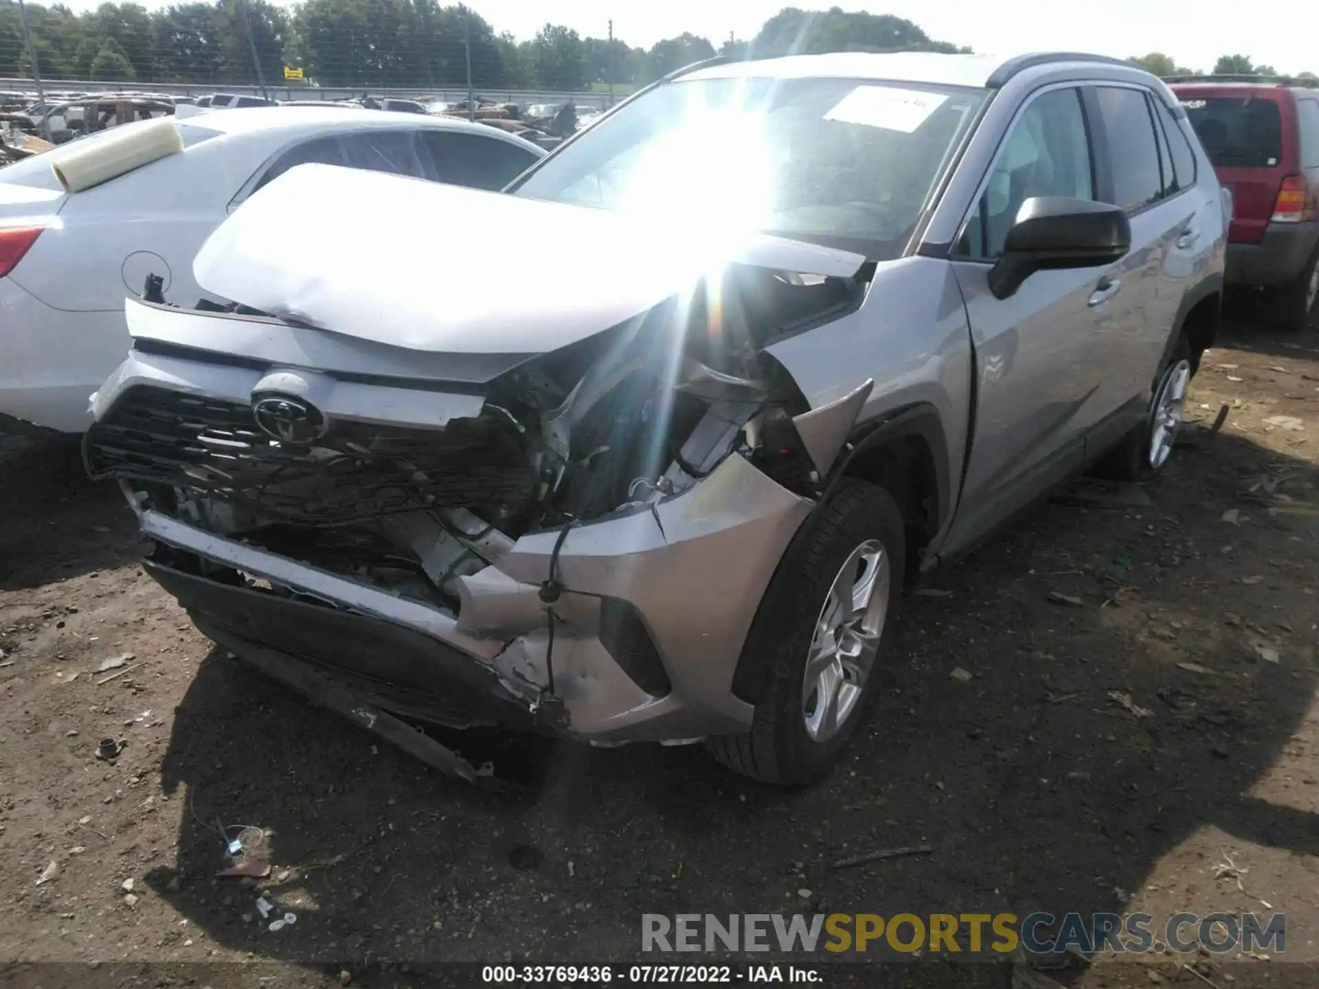
<instances>
[{"instance_id":1,"label":"whole front wheel of the silver SUV, tire and rim","mask_svg":"<svg viewBox=\"0 0 1319 989\"><path fill-rule=\"evenodd\" d=\"M723 765L766 783L824 777L874 694L893 637L906 539L893 497L844 480L789 546L743 647L761 678L751 732L711 738Z\"/></svg>"}]
</instances>

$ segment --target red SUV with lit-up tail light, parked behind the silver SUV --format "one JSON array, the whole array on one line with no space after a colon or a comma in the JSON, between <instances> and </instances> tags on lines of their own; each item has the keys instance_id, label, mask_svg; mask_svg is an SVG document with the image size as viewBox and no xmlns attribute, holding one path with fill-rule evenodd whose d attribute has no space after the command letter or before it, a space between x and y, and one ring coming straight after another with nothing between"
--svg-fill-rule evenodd
<instances>
[{"instance_id":1,"label":"red SUV with lit-up tail light, parked behind the silver SUV","mask_svg":"<svg viewBox=\"0 0 1319 989\"><path fill-rule=\"evenodd\" d=\"M1232 190L1227 282L1266 289L1303 328L1319 299L1319 88L1299 79L1169 79Z\"/></svg>"}]
</instances>

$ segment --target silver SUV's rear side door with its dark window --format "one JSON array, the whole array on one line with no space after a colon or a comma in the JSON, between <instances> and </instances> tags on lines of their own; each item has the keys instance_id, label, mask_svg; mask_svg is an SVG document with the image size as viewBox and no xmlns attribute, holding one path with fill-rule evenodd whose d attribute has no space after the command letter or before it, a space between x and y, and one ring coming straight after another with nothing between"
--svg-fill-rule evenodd
<instances>
[{"instance_id":1,"label":"silver SUV's rear side door with its dark window","mask_svg":"<svg viewBox=\"0 0 1319 989\"><path fill-rule=\"evenodd\" d=\"M1112 276L1121 284L1112 319L1096 327L1091 349L1100 369L1097 398L1107 410L1092 436L1097 448L1120 436L1134 411L1148 405L1194 258L1207 241L1194 162L1179 179L1173 157L1174 146L1182 157L1190 148L1181 133L1178 145L1169 141L1158 98L1142 87L1104 84L1092 90L1092 100L1101 129L1100 173L1107 174L1100 198L1125 208L1132 224L1130 253Z\"/></svg>"}]
</instances>

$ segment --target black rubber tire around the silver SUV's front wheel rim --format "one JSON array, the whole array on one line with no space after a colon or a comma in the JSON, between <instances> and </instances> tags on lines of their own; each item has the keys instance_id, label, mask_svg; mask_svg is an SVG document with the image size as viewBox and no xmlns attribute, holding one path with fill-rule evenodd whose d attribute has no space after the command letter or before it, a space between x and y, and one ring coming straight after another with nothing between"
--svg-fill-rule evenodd
<instances>
[{"instance_id":1,"label":"black rubber tire around the silver SUV's front wheel rim","mask_svg":"<svg viewBox=\"0 0 1319 989\"><path fill-rule=\"evenodd\" d=\"M836 734L816 741L807 733L803 717L807 653L835 576L851 554L872 539L882 546L889 566L878 649L851 715ZM745 734L710 738L710 753L729 769L765 783L801 786L827 775L865 720L876 694L878 669L897 624L905 570L906 537L897 502L873 484L843 480L783 554L743 646L743 662L762 665L764 674L752 728Z\"/></svg>"}]
</instances>

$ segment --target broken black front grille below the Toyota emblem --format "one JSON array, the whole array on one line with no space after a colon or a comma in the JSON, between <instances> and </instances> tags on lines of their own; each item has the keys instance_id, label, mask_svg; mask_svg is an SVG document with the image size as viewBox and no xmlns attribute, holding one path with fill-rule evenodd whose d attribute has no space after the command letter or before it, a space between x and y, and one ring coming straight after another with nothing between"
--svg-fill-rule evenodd
<instances>
[{"instance_id":1,"label":"broken black front grille below the Toyota emblem","mask_svg":"<svg viewBox=\"0 0 1319 989\"><path fill-rule=\"evenodd\" d=\"M334 422L313 446L256 427L251 406L138 385L84 439L92 477L168 485L262 521L336 525L427 508L517 508L534 473L510 422L419 430Z\"/></svg>"}]
</instances>

